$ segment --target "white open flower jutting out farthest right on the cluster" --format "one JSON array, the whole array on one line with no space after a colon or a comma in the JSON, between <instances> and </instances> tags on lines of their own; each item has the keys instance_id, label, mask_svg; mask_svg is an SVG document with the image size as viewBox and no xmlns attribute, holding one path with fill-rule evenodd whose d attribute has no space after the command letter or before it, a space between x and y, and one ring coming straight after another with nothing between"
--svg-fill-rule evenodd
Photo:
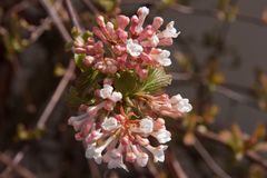
<instances>
[{"instance_id":1,"label":"white open flower jutting out farthest right on the cluster","mask_svg":"<svg viewBox=\"0 0 267 178\"><path fill-rule=\"evenodd\" d=\"M180 95L172 96L170 102L176 107L180 112L189 112L192 109L192 106L189 103L187 98L182 98Z\"/></svg>"}]
</instances>

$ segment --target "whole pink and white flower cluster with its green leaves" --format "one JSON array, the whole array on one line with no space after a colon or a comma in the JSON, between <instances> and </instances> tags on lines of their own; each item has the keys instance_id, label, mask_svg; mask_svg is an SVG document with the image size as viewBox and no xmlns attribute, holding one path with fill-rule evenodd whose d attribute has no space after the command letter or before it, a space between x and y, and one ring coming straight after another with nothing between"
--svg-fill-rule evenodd
<instances>
[{"instance_id":1,"label":"whole pink and white flower cluster with its green leaves","mask_svg":"<svg viewBox=\"0 0 267 178\"><path fill-rule=\"evenodd\" d=\"M165 160L171 140L164 116L181 117L191 110L188 99L158 92L169 83L164 67L170 66L170 46L179 32L174 21L164 30L156 17L144 27L149 9L139 8L130 19L118 16L105 22L99 16L92 33L75 37L73 49L81 79L75 92L79 116L70 117L76 139L86 145L86 157L108 168L127 162L145 167L149 156ZM151 139L155 138L155 139Z\"/></svg>"}]
</instances>

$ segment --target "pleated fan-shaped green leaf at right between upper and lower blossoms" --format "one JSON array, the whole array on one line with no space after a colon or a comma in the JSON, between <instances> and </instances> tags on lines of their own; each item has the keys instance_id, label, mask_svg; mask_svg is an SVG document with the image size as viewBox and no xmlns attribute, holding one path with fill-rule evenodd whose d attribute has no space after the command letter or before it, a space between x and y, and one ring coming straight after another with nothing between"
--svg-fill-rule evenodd
<instances>
[{"instance_id":1,"label":"pleated fan-shaped green leaf at right between upper and lower blossoms","mask_svg":"<svg viewBox=\"0 0 267 178\"><path fill-rule=\"evenodd\" d=\"M171 82L171 76L167 75L162 68L149 69L148 78L142 82L139 91L155 93L167 87Z\"/></svg>"}]
</instances>

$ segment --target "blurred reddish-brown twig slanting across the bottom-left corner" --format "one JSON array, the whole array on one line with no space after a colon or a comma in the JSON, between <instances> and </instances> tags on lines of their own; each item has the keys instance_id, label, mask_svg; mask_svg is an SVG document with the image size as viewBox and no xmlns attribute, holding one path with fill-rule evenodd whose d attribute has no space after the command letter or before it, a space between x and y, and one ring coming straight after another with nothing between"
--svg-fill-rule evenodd
<instances>
[{"instance_id":1,"label":"blurred reddish-brown twig slanting across the bottom-left corner","mask_svg":"<svg viewBox=\"0 0 267 178\"><path fill-rule=\"evenodd\" d=\"M36 175L32 174L30 170L26 169L24 167L14 164L7 155L0 152L0 161L7 165L8 167L12 168L16 172L18 172L23 178L36 178ZM6 178L7 175L0 175L0 177Z\"/></svg>"}]
</instances>

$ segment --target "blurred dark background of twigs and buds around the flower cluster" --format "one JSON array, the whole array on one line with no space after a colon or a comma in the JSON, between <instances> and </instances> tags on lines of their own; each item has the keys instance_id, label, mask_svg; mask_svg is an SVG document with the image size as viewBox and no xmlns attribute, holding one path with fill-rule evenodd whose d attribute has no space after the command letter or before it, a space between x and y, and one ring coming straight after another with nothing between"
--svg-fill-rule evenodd
<instances>
[{"instance_id":1,"label":"blurred dark background of twigs and buds around the flower cluster","mask_svg":"<svg viewBox=\"0 0 267 178\"><path fill-rule=\"evenodd\" d=\"M170 48L174 80L167 91L189 98L194 112L169 123L172 141L165 164L126 172L87 160L67 125L76 113L68 106L69 88L79 72L68 50L72 22L66 1L1 0L1 178L267 177L266 0L71 2L89 30L97 13L131 17L141 6L150 9L147 23L156 16L174 20L181 34ZM258 144L260 155L249 155Z\"/></svg>"}]
</instances>

